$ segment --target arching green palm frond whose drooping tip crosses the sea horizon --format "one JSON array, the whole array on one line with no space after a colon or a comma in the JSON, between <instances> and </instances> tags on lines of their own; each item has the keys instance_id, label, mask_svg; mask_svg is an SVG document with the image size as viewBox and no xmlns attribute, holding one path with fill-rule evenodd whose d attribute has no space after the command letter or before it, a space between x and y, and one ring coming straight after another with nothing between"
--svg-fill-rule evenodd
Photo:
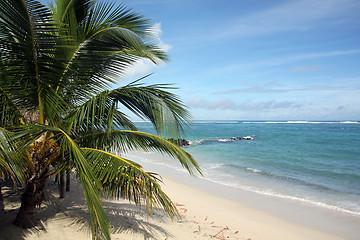
<instances>
[{"instance_id":1,"label":"arching green palm frond whose drooping tip crosses the sea horizon","mask_svg":"<svg viewBox=\"0 0 360 240\"><path fill-rule=\"evenodd\" d=\"M135 130L126 115L117 110L122 104L139 117L150 120L161 136L179 139L190 125L191 115L177 95L166 91L169 89L174 88L167 84L144 86L136 81L112 91L102 91L68 115L71 129Z\"/></svg>"}]
</instances>

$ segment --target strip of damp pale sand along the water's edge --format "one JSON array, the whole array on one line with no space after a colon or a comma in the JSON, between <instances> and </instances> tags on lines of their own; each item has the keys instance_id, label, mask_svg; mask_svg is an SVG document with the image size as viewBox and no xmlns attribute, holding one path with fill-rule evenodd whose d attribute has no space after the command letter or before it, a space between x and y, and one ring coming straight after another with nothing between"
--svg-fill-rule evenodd
<instances>
[{"instance_id":1,"label":"strip of damp pale sand along the water's edge","mask_svg":"<svg viewBox=\"0 0 360 240\"><path fill-rule=\"evenodd\" d=\"M289 223L297 225L297 227L306 228L309 231L314 230L315 232L329 235L326 236L326 239L333 239L332 237L334 237L334 239L360 239L358 234L358 226L360 226L359 216L312 205L307 202L277 196L269 196L231 186L221 185L201 177L191 177L185 171L178 171L176 169L169 168L166 165L156 164L146 160L146 158L151 159L153 157L157 157L163 159L164 161L174 161L169 160L167 157L161 156L160 154L153 155L148 153L132 153L129 154L129 156L134 157L136 160L141 162L145 169L160 174L160 176L164 178L165 192L174 194L175 199L181 197L186 198L186 196L183 196L184 194L181 195L176 192L174 193L172 190L172 185L181 184L183 185L182 187L191 188L194 192L201 192L205 194L205 198L217 198L220 199L220 201L224 200L230 205L235 205L243 209L245 212L252 209L255 212L261 212L271 218L276 218L280 220L282 224ZM167 185L169 185L169 187L167 187ZM170 197L172 196L170 195ZM193 201L195 201L195 199L193 199ZM279 222L279 224L281 223ZM259 229L260 228L261 227L259 225ZM280 238L277 237L276 239ZM314 238L309 235L307 236L307 239L323 238Z\"/></svg>"}]
</instances>

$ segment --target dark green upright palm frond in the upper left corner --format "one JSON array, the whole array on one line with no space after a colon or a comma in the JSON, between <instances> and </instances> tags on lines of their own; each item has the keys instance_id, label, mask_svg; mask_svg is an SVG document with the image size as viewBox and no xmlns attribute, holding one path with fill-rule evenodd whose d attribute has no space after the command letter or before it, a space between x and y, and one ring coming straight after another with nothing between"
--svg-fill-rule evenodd
<instances>
[{"instance_id":1,"label":"dark green upright palm frond in the upper left corner","mask_svg":"<svg viewBox=\"0 0 360 240\"><path fill-rule=\"evenodd\" d=\"M7 77L0 79L5 93L26 109L40 108L41 94L58 81L54 58L57 29L50 11L37 1L0 1L0 48ZM43 119L42 119L43 121Z\"/></svg>"}]
</instances>

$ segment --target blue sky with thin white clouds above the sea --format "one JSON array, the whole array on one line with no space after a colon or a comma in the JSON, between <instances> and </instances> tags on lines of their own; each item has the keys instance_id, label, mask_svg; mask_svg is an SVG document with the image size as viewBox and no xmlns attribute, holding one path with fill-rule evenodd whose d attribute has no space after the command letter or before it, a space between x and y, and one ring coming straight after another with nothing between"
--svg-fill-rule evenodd
<instances>
[{"instance_id":1,"label":"blue sky with thin white clouds above the sea","mask_svg":"<svg viewBox=\"0 0 360 240\"><path fill-rule=\"evenodd\" d=\"M174 83L198 120L360 120L359 0L132 0L170 61L125 83Z\"/></svg>"}]
</instances>

